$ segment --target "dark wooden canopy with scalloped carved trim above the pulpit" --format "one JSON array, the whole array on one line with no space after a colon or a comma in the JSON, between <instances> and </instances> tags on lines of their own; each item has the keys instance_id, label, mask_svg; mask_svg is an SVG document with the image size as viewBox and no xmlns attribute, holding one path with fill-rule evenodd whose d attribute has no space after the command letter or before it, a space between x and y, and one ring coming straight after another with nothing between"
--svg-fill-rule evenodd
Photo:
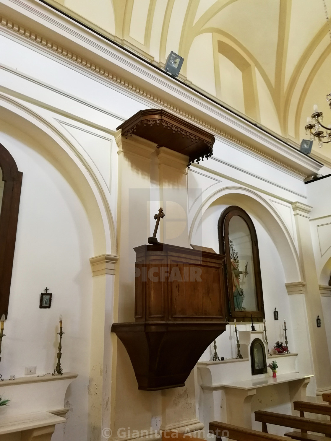
<instances>
[{"instance_id":1,"label":"dark wooden canopy with scalloped carved trim above the pulpit","mask_svg":"<svg viewBox=\"0 0 331 441\"><path fill-rule=\"evenodd\" d=\"M119 129L125 138L137 135L188 156L189 166L213 154L214 135L163 109L140 110Z\"/></svg>"}]
</instances>

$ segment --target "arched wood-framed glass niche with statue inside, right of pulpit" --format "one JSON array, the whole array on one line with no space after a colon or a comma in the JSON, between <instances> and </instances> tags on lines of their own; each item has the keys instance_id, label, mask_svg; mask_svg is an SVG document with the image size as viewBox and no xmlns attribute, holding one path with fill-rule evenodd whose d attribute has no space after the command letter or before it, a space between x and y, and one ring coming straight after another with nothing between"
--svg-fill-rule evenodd
<instances>
[{"instance_id":1,"label":"arched wood-framed glass niche with statue inside, right of pulpit","mask_svg":"<svg viewBox=\"0 0 331 441\"><path fill-rule=\"evenodd\" d=\"M220 254L226 255L228 321L263 321L259 247L252 219L237 206L218 220Z\"/></svg>"}]
</instances>

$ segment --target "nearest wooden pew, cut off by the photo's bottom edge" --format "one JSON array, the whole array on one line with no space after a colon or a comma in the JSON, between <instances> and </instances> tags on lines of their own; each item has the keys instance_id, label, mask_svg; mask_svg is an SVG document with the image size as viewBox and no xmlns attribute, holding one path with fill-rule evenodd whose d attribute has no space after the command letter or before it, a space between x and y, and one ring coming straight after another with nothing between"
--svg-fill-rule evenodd
<instances>
[{"instance_id":1,"label":"nearest wooden pew, cut off by the photo's bottom edge","mask_svg":"<svg viewBox=\"0 0 331 441\"><path fill-rule=\"evenodd\" d=\"M278 435L266 434L257 430L245 429L244 427L231 426L223 422L213 421L209 423L209 432L216 435L216 440L231 439L236 441L287 441L288 438ZM326 440L327 438L324 438ZM163 441L163 440L162 440ZM169 441L169 440L168 440Z\"/></svg>"}]
</instances>

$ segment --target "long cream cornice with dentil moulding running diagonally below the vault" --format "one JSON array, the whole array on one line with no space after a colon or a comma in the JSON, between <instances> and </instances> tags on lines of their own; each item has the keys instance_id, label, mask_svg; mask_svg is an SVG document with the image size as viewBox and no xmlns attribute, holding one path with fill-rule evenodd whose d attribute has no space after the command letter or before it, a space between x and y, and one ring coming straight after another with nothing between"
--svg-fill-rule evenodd
<instances>
[{"instance_id":1,"label":"long cream cornice with dentil moulding running diagonally below the vault","mask_svg":"<svg viewBox=\"0 0 331 441\"><path fill-rule=\"evenodd\" d=\"M38 45L69 63L79 65L90 74L98 75L105 81L116 83L128 92L138 94L144 101L153 102L154 106L167 108L214 132L221 138L229 139L256 155L262 156L280 168L294 172L300 178L316 174L320 169L320 164L302 155L297 149L289 147L249 121L243 120L240 116L208 100L207 97L202 97L194 90L188 89L184 84L173 81L165 73L155 70L152 66L143 63L142 60L112 45L45 4L35 0L25 2L3 0L1 3L6 5L7 10L11 11L11 16L13 16L13 21L0 16L1 29L33 45ZM47 29L48 33L52 34L52 38L14 22L14 17L17 15L20 22L27 21L30 27L31 22L34 22L36 30L41 27L44 30ZM79 45L81 53L87 53L90 59L56 43L55 39L66 40L67 45L75 48ZM93 57L96 60L102 60L107 68L95 63L92 60ZM119 72L120 75L118 75ZM132 78L135 82L131 82ZM218 125L214 125L213 122Z\"/></svg>"}]
</instances>

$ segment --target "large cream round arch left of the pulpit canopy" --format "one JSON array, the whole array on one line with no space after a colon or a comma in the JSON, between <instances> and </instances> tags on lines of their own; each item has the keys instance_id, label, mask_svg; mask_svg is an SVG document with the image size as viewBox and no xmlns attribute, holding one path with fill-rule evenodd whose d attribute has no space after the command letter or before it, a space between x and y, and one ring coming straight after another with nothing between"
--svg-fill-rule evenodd
<instances>
[{"instance_id":1,"label":"large cream round arch left of the pulpit canopy","mask_svg":"<svg viewBox=\"0 0 331 441\"><path fill-rule=\"evenodd\" d=\"M0 119L36 139L35 149L53 163L70 183L87 212L94 255L117 254L116 232L107 192L100 173L74 139L12 98L0 94ZM99 176L100 175L100 176Z\"/></svg>"}]
</instances>

